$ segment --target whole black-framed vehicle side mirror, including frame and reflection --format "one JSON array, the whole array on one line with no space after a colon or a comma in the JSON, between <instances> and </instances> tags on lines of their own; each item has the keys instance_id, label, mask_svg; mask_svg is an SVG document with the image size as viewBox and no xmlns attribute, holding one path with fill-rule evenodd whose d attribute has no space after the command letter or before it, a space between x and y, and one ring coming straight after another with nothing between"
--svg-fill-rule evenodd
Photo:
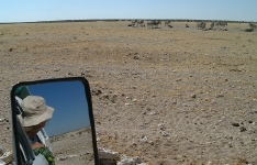
<instances>
[{"instance_id":1,"label":"whole black-framed vehicle side mirror, including frame and reflection","mask_svg":"<svg viewBox=\"0 0 257 165\"><path fill-rule=\"evenodd\" d=\"M36 102L38 100L41 103ZM41 113L44 103L48 107L47 110L54 110L47 112L53 114L52 118L43 122L40 120L46 119ZM19 82L11 91L11 116L15 164L44 164L53 157L55 164L98 164L92 102L87 79L75 77ZM38 131L33 127L37 121L42 125ZM34 145L35 142L44 144L46 150L34 148L37 146ZM47 157L43 152L49 152L52 156Z\"/></svg>"}]
</instances>

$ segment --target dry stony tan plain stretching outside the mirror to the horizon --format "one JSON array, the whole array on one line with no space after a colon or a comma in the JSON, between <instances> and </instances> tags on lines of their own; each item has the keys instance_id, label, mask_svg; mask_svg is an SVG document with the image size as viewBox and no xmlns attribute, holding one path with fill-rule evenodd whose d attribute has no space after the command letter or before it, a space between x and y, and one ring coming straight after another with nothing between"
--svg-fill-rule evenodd
<instances>
[{"instance_id":1,"label":"dry stony tan plain stretching outside the mirror to the horizon","mask_svg":"<svg viewBox=\"0 0 257 165\"><path fill-rule=\"evenodd\" d=\"M130 23L0 24L0 145L11 151L12 85L83 76L99 147L149 165L256 165L257 31Z\"/></svg>"}]
</instances>

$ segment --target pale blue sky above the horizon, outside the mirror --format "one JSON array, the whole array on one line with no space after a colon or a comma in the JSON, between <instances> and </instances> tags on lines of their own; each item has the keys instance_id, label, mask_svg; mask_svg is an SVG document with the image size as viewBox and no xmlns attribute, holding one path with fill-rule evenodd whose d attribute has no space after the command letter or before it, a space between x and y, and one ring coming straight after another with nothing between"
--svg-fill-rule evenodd
<instances>
[{"instance_id":1,"label":"pale blue sky above the horizon, outside the mirror","mask_svg":"<svg viewBox=\"0 0 257 165\"><path fill-rule=\"evenodd\" d=\"M192 19L257 22L257 0L1 0L0 22Z\"/></svg>"}]
</instances>

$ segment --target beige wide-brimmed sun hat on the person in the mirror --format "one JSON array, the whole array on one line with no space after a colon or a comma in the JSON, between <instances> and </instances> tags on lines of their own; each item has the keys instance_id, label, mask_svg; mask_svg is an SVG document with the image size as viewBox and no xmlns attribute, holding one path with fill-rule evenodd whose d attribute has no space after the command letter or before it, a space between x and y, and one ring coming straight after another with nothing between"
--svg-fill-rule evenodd
<instances>
[{"instance_id":1,"label":"beige wide-brimmed sun hat on the person in the mirror","mask_svg":"<svg viewBox=\"0 0 257 165\"><path fill-rule=\"evenodd\" d=\"M46 106L45 99L38 96L27 96L22 100L23 110L20 122L23 127L37 125L53 117L54 108Z\"/></svg>"}]
</instances>

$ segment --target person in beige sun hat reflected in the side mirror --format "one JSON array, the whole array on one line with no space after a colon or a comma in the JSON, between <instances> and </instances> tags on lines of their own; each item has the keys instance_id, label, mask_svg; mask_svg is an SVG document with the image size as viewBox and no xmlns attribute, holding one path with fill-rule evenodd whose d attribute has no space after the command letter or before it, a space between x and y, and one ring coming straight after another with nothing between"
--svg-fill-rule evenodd
<instances>
[{"instance_id":1,"label":"person in beige sun hat reflected in the side mirror","mask_svg":"<svg viewBox=\"0 0 257 165\"><path fill-rule=\"evenodd\" d=\"M54 165L53 153L41 142L36 134L53 117L54 108L46 106L45 99L38 96L25 97L21 102L21 108L23 113L18 118L30 139L35 155L44 155L48 164Z\"/></svg>"}]
</instances>

